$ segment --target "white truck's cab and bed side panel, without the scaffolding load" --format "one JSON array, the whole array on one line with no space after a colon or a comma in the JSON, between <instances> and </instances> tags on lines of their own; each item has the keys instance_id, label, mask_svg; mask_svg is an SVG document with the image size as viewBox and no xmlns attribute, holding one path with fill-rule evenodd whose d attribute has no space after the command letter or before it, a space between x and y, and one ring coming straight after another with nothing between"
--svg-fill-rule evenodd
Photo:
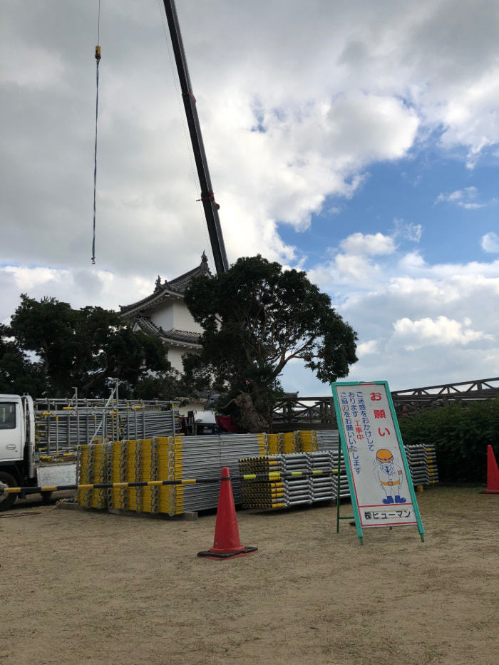
<instances>
[{"instance_id":1,"label":"white truck's cab and bed side panel, without the scaffolding load","mask_svg":"<svg viewBox=\"0 0 499 665\"><path fill-rule=\"evenodd\" d=\"M36 448L35 411L28 396L0 395L0 488L72 485L76 461L43 460ZM59 451L58 451L59 452ZM60 450L64 455L64 448ZM69 454L69 453L68 453ZM0 494L0 510L7 510L19 494ZM50 493L43 493L48 498Z\"/></svg>"}]
</instances>

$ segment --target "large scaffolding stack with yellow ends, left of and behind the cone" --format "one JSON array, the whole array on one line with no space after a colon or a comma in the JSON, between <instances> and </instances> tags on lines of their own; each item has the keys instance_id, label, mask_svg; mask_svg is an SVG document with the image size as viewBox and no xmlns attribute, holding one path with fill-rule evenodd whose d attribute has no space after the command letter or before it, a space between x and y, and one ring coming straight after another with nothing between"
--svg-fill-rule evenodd
<instances>
[{"instance_id":1,"label":"large scaffolding stack with yellow ends, left of and behind the cone","mask_svg":"<svg viewBox=\"0 0 499 665\"><path fill-rule=\"evenodd\" d=\"M265 452L261 435L167 436L113 443L92 443L78 449L78 483L135 483L150 480L185 480L192 485L153 488L80 490L78 502L85 507L163 512L182 515L217 507L220 483L202 480L220 478L227 466L239 473L240 455ZM240 480L232 482L235 502L242 502Z\"/></svg>"}]
</instances>

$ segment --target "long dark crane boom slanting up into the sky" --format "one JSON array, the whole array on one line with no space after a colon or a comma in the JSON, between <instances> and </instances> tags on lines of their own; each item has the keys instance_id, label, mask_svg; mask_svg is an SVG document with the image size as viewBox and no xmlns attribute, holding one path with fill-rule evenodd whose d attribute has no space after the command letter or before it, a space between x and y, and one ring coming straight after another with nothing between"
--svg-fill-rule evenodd
<instances>
[{"instance_id":1,"label":"long dark crane boom slanting up into the sky","mask_svg":"<svg viewBox=\"0 0 499 665\"><path fill-rule=\"evenodd\" d=\"M210 171L206 160L205 146L202 143L200 121L197 117L196 100L192 94L189 70L185 51L178 24L177 9L175 0L164 0L166 18L168 20L168 29L173 45L175 63L177 64L178 78L180 79L180 90L184 101L185 115L187 116L187 125L189 127L190 140L197 168L197 175L201 185L201 201L205 209L206 223L208 233L210 234L210 243L212 246L213 259L215 260L215 269L217 274L227 272L229 263L225 252L225 244L222 236L222 227L218 217L218 205L213 195L212 183L210 180Z\"/></svg>"}]
</instances>

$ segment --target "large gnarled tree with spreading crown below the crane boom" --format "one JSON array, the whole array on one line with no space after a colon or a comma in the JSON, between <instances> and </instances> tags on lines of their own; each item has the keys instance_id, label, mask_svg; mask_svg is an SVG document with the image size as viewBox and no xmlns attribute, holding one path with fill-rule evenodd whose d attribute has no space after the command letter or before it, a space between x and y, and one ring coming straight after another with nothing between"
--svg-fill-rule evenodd
<instances>
[{"instance_id":1,"label":"large gnarled tree with spreading crown below the crane boom","mask_svg":"<svg viewBox=\"0 0 499 665\"><path fill-rule=\"evenodd\" d=\"M346 376L357 360L356 333L329 296L305 272L261 256L192 280L185 302L204 329L202 353L185 359L187 376L226 391L250 430L268 426L282 391L279 375L292 359L328 383ZM259 416L254 426L252 409Z\"/></svg>"}]
</instances>

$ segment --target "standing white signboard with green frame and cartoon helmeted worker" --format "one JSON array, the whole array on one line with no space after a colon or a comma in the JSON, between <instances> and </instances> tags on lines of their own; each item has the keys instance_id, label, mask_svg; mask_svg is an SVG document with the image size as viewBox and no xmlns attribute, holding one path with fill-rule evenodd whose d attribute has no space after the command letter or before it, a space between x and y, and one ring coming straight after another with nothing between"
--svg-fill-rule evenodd
<instances>
[{"instance_id":1,"label":"standing white signboard with green frame and cartoon helmeted worker","mask_svg":"<svg viewBox=\"0 0 499 665\"><path fill-rule=\"evenodd\" d=\"M388 383L331 383L357 532L362 527L417 525L411 473Z\"/></svg>"}]
</instances>

